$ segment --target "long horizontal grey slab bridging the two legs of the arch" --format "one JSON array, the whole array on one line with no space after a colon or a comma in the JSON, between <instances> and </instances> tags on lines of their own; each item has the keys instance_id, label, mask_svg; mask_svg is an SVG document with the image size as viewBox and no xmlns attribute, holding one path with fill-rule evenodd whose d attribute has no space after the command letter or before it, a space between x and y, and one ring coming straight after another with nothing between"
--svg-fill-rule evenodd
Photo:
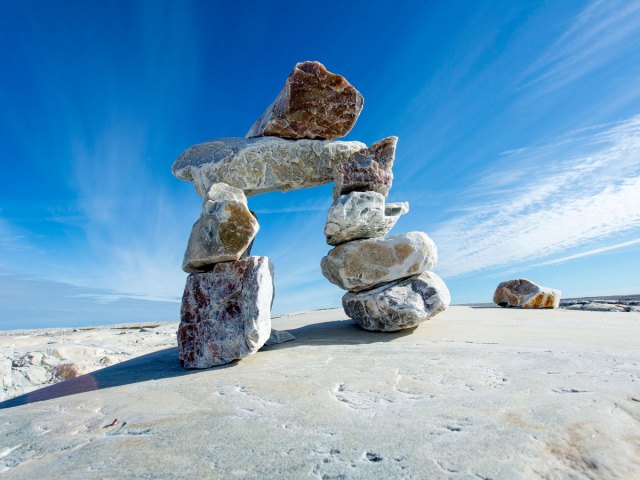
<instances>
[{"instance_id":1,"label":"long horizontal grey slab bridging the two legs of the arch","mask_svg":"<svg viewBox=\"0 0 640 480\"><path fill-rule=\"evenodd\" d=\"M176 177L193 182L201 197L219 182L250 197L331 183L335 167L366 148L361 142L221 138L187 149L172 171Z\"/></svg>"}]
</instances>

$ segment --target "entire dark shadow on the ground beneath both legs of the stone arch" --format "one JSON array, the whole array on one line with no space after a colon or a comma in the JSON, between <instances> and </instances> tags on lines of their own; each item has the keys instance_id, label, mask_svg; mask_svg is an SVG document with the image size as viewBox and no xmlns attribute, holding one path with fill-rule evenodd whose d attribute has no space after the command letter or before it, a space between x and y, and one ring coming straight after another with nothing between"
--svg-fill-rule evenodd
<instances>
[{"instance_id":1,"label":"entire dark shadow on the ground beneath both legs of the stone arch","mask_svg":"<svg viewBox=\"0 0 640 480\"><path fill-rule=\"evenodd\" d=\"M266 353L269 350L294 348L302 345L354 345L388 342L408 335L413 330L409 329L398 333L367 332L358 327L352 320L330 321L291 329L289 331L296 337L295 340L264 347L263 350ZM166 348L10 398L0 403L0 409L149 380L194 375L205 371L212 372L218 369L230 368L236 364L237 362L232 362L206 370L187 370L182 368L178 362L178 348Z\"/></svg>"}]
</instances>

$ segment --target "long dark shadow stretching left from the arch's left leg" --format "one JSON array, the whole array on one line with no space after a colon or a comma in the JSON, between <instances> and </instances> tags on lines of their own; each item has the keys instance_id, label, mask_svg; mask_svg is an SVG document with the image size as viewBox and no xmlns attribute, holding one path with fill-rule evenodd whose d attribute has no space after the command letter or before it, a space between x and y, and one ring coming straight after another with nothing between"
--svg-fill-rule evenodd
<instances>
[{"instance_id":1,"label":"long dark shadow stretching left from the arch's left leg","mask_svg":"<svg viewBox=\"0 0 640 480\"><path fill-rule=\"evenodd\" d=\"M236 362L233 362L214 368L229 368L234 366L235 363ZM25 393L18 397L10 398L0 403L0 409L131 383L190 375L199 371L201 370L187 370L180 366L178 362L178 347L166 348L132 358L131 360L111 367L96 370L95 372L80 377L49 385L48 387Z\"/></svg>"}]
</instances>

